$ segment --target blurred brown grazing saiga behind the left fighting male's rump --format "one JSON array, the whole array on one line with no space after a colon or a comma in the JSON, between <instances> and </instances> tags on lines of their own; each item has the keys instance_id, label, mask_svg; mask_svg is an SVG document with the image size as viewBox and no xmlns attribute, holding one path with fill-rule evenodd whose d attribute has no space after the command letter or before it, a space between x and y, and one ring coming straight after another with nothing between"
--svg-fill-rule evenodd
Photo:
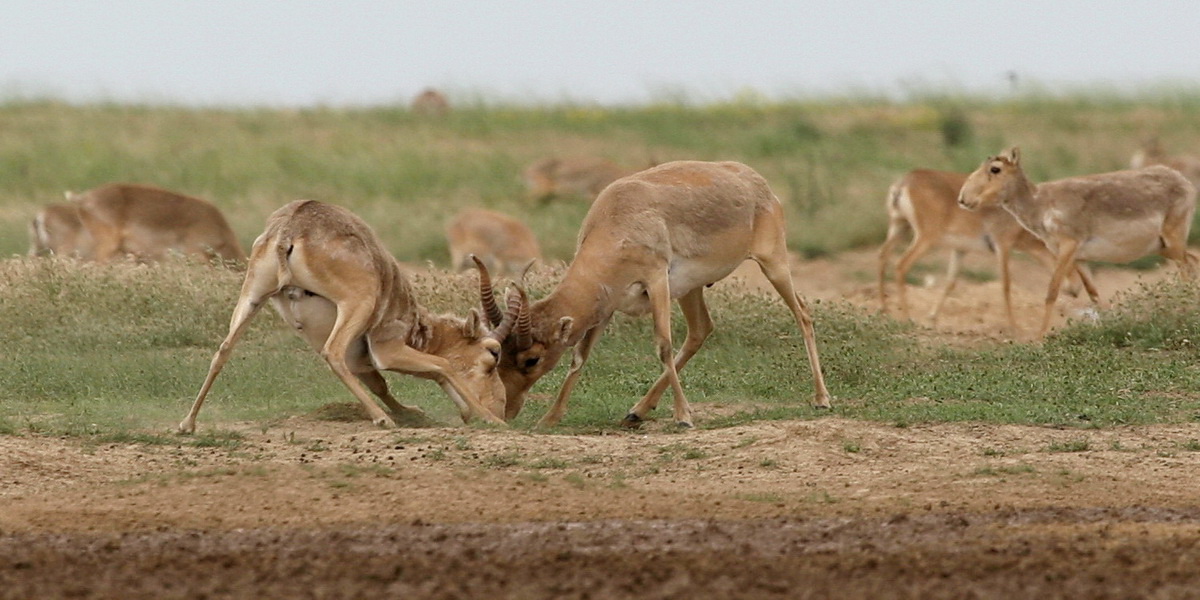
<instances>
[{"instance_id":1,"label":"blurred brown grazing saiga behind the left fighting male's rump","mask_svg":"<svg viewBox=\"0 0 1200 600\"><path fill-rule=\"evenodd\" d=\"M83 232L48 241L73 244L71 252L80 258L107 263L130 256L152 262L174 252L246 260L224 216L200 198L136 184L107 184L82 193L66 192L66 197L77 209ZM60 227L66 232L68 222L60 221ZM68 253L53 246L49 251Z\"/></svg>"}]
</instances>

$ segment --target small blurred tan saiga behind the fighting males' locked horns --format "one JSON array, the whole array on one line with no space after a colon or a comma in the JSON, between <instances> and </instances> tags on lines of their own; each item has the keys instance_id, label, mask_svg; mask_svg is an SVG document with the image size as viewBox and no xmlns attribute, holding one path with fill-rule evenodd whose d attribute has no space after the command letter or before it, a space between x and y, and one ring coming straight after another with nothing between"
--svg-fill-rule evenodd
<instances>
[{"instance_id":1,"label":"small blurred tan saiga behind the fighting males' locked horns","mask_svg":"<svg viewBox=\"0 0 1200 600\"><path fill-rule=\"evenodd\" d=\"M463 209L446 224L450 264L460 271L474 266L472 254L499 274L518 274L541 259L533 230L521 221L487 209Z\"/></svg>"}]
</instances>

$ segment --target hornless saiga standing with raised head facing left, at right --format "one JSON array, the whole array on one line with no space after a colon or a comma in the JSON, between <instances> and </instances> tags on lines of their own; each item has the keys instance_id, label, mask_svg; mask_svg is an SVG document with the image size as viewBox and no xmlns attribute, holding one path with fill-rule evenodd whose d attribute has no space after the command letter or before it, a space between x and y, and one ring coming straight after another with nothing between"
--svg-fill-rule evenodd
<instances>
[{"instance_id":1,"label":"hornless saiga standing with raised head facing left, at right","mask_svg":"<svg viewBox=\"0 0 1200 600\"><path fill-rule=\"evenodd\" d=\"M1163 166L1036 185L1021 170L1015 146L985 160L959 192L959 205L967 210L1003 208L1055 256L1042 336L1050 329L1062 280L1076 260L1128 263L1158 253L1194 278L1196 257L1187 244L1195 202L1195 186ZM1099 294L1088 277L1084 277L1084 286L1098 302Z\"/></svg>"}]
</instances>

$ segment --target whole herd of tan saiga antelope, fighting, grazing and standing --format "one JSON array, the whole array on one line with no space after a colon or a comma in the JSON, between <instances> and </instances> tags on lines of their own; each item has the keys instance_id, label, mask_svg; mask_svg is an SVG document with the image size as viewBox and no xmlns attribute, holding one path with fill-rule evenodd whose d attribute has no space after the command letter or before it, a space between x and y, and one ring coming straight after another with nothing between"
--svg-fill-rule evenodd
<instances>
[{"instance_id":1,"label":"whole herd of tan saiga antelope, fighting, grazing and standing","mask_svg":"<svg viewBox=\"0 0 1200 600\"><path fill-rule=\"evenodd\" d=\"M1007 322L1015 330L1009 256L1019 250L1051 271L1039 335L1049 329L1066 278L1076 278L1098 301L1082 262L1126 263L1158 253L1194 278L1196 256L1188 252L1187 238L1200 161L1169 157L1152 143L1132 162L1129 170L1034 184L1022 170L1020 151L1010 148L970 174L905 174L887 193L881 310L887 310L888 263L906 230L912 241L895 266L904 316L907 271L940 245L952 253L934 317L954 287L961 253L984 250L996 256ZM492 274L520 275L541 258L538 241L510 216L485 209L461 212L446 227L451 265L475 269L480 283L480 307L466 317L427 311L367 223L314 200L271 214L247 257L212 204L151 186L110 184L43 208L30 226L30 253L95 262L154 262L181 253L245 268L229 331L179 425L184 433L194 432L215 378L268 301L382 427L421 412L392 397L380 371L437 382L463 422L478 418L503 425L520 414L529 389L570 349L566 377L539 421L553 426L613 314L649 313L662 372L622 424L638 426L670 388L674 422L690 427L694 416L679 371L713 331L704 288L748 259L757 263L803 334L814 406L830 406L812 317L792 281L784 206L758 173L738 162L674 161L628 173L607 161L554 158L534 163L523 175L534 199L594 196L575 257L545 298L530 301L520 277L498 298ZM688 325L678 353L672 300Z\"/></svg>"}]
</instances>

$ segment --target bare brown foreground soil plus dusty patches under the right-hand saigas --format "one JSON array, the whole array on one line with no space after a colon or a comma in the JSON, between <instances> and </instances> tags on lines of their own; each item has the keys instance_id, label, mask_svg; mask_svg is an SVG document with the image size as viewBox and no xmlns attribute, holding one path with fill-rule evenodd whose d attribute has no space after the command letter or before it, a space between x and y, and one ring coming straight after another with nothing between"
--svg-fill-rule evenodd
<instances>
[{"instance_id":1,"label":"bare brown foreground soil plus dusty patches under the right-hand saigas","mask_svg":"<svg viewBox=\"0 0 1200 600\"><path fill-rule=\"evenodd\" d=\"M868 252L797 265L808 296L872 307L874 272ZM1018 278L1026 330L1044 284ZM918 320L935 298L911 290ZM930 336L1002 323L998 286L962 281ZM212 448L0 437L0 598L1200 595L1200 425L564 436L328 413L222 424L242 439Z\"/></svg>"}]
</instances>

